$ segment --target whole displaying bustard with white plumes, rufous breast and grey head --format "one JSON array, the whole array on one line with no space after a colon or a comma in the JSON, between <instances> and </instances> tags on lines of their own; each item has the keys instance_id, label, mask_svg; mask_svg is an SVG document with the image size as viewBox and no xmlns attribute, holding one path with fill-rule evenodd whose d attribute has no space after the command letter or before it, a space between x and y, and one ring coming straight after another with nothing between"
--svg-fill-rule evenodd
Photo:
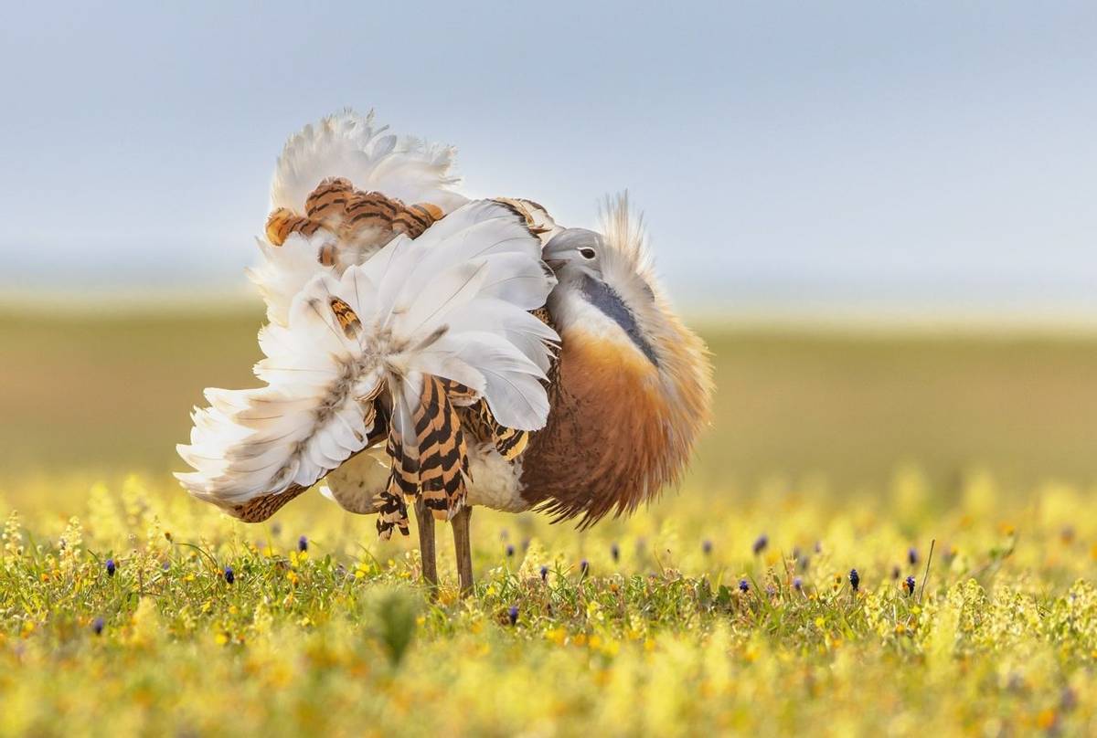
<instances>
[{"instance_id":1,"label":"whole displaying bustard with white plumes, rufous breast and grey head","mask_svg":"<svg viewBox=\"0 0 1097 738\"><path fill-rule=\"evenodd\" d=\"M256 389L206 389L195 497L265 520L320 479L383 537L453 524L473 586L473 506L586 527L675 484L713 390L626 197L602 232L538 203L468 200L454 151L347 111L290 138L250 276L267 302Z\"/></svg>"}]
</instances>

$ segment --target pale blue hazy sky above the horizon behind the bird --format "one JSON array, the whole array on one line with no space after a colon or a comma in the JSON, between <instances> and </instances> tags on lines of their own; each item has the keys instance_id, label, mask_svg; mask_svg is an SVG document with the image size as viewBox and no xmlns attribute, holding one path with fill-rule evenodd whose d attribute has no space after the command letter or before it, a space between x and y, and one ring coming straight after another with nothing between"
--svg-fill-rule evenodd
<instances>
[{"instance_id":1,"label":"pale blue hazy sky above the horizon behind the bird","mask_svg":"<svg viewBox=\"0 0 1097 738\"><path fill-rule=\"evenodd\" d=\"M352 105L572 225L629 188L681 303L1097 313L1092 2L39 4L8 289L238 283L284 138Z\"/></svg>"}]
</instances>

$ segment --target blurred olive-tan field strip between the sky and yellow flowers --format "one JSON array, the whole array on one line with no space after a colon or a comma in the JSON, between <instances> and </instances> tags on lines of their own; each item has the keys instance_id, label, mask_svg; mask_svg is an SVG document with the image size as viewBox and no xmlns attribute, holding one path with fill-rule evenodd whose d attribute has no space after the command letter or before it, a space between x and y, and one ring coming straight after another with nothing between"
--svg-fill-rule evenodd
<instances>
[{"instance_id":1,"label":"blurred olive-tan field strip between the sky and yellow flowers","mask_svg":"<svg viewBox=\"0 0 1097 738\"><path fill-rule=\"evenodd\" d=\"M252 386L262 316L0 313L0 468L29 474L178 469L206 386ZM695 486L822 476L879 486L916 464L948 491L972 467L1009 487L1097 480L1097 337L704 331L713 429Z\"/></svg>"}]
</instances>

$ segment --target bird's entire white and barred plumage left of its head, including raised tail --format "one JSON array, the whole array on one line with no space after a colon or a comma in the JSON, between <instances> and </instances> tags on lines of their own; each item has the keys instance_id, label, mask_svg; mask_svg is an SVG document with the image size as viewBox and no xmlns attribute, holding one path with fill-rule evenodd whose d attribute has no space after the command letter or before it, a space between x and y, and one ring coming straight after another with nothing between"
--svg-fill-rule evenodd
<instances>
[{"instance_id":1,"label":"bird's entire white and barred plumage left of its head, including raised tail","mask_svg":"<svg viewBox=\"0 0 1097 738\"><path fill-rule=\"evenodd\" d=\"M207 389L179 446L194 468L183 486L241 519L385 440L378 530L406 533L405 495L421 491L437 518L463 504L457 407L483 400L516 430L546 422L558 339L529 313L556 284L541 241L507 204L451 192L449 149L383 134L347 112L279 160L278 218L251 272L270 319L255 367L267 386Z\"/></svg>"}]
</instances>

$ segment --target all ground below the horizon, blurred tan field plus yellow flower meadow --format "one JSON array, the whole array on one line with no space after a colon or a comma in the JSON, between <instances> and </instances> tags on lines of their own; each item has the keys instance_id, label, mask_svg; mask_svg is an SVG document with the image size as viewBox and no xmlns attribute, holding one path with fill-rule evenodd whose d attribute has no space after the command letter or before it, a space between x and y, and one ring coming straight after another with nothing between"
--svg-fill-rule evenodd
<instances>
[{"instance_id":1,"label":"all ground below the horizon, blurred tan field plus yellow flower meadow","mask_svg":"<svg viewBox=\"0 0 1097 738\"><path fill-rule=\"evenodd\" d=\"M0 736L1097 731L1095 337L706 330L682 489L477 509L461 600L444 524L432 598L414 535L168 476L260 321L0 314Z\"/></svg>"}]
</instances>

